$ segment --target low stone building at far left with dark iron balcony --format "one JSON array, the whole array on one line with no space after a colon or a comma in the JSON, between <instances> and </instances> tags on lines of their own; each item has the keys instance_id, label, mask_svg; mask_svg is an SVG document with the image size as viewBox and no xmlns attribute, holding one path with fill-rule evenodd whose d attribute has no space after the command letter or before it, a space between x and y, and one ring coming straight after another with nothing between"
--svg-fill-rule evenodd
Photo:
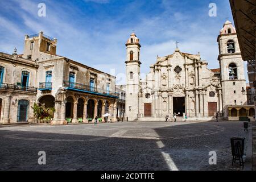
<instances>
[{"instance_id":1,"label":"low stone building at far left with dark iron balcony","mask_svg":"<svg viewBox=\"0 0 256 182\"><path fill-rule=\"evenodd\" d=\"M0 52L0 123L34 121L36 61Z\"/></svg>"}]
</instances>

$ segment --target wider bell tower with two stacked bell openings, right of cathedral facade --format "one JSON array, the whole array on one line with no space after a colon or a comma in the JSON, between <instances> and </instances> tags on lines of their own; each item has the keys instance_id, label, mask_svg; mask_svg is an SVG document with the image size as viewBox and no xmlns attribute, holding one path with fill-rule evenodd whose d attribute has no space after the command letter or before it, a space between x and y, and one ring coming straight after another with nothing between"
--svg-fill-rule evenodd
<instances>
[{"instance_id":1,"label":"wider bell tower with two stacked bell openings, right of cathedral facade","mask_svg":"<svg viewBox=\"0 0 256 182\"><path fill-rule=\"evenodd\" d=\"M238 44L236 29L226 21L218 35L220 55L218 61L221 68L222 102L224 117L228 117L229 105L246 105L247 98L242 94L246 88L243 60Z\"/></svg>"}]
</instances>

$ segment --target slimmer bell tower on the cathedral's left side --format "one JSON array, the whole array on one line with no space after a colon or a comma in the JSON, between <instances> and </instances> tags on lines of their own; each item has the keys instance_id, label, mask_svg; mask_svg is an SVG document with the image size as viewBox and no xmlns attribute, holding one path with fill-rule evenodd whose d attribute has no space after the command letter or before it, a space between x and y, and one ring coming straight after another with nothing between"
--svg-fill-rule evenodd
<instances>
[{"instance_id":1,"label":"slimmer bell tower on the cathedral's left side","mask_svg":"<svg viewBox=\"0 0 256 182\"><path fill-rule=\"evenodd\" d=\"M128 121L136 121L139 114L139 82L140 82L140 51L141 44L133 33L126 46L126 102L125 110Z\"/></svg>"}]
</instances>

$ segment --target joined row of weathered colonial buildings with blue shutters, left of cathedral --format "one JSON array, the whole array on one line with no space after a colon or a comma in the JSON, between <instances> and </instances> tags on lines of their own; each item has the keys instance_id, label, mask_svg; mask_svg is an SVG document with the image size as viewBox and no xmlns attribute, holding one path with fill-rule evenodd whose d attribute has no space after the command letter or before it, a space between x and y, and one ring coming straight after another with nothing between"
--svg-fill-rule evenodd
<instances>
[{"instance_id":1,"label":"joined row of weathered colonial buildings with blue shutters, left of cathedral","mask_svg":"<svg viewBox=\"0 0 256 182\"><path fill-rule=\"evenodd\" d=\"M34 122L34 103L55 107L52 124L106 113L117 121L115 77L56 55L56 48L57 39L40 32L25 36L23 55L0 54L1 123Z\"/></svg>"}]
</instances>

